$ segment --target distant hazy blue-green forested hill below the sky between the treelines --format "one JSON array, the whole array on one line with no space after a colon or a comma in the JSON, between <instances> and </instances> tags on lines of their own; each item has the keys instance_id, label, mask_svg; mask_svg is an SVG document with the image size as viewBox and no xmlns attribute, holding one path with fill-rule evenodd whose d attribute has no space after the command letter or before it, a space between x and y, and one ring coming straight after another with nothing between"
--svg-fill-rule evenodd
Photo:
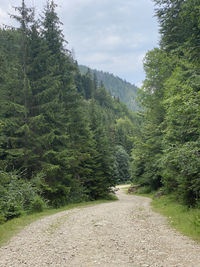
<instances>
[{"instance_id":1,"label":"distant hazy blue-green forested hill below the sky between the treelines","mask_svg":"<svg viewBox=\"0 0 200 267\"><path fill-rule=\"evenodd\" d=\"M86 74L88 71L88 67L83 65L79 65L79 69L81 74ZM129 109L137 110L137 87L135 85L108 72L93 69L90 69L90 71L92 75L96 74L98 82L101 83L102 81L112 96L119 97L120 101L125 103Z\"/></svg>"}]
</instances>

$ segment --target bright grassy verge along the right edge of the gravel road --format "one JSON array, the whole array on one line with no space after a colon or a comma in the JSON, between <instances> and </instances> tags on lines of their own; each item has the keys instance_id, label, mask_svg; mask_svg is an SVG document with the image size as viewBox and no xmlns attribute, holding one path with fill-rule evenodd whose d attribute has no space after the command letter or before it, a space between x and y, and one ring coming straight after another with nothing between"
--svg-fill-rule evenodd
<instances>
[{"instance_id":1,"label":"bright grassy verge along the right edge of the gravel road","mask_svg":"<svg viewBox=\"0 0 200 267\"><path fill-rule=\"evenodd\" d=\"M179 204L174 195L161 196L154 198L153 193L134 194L152 198L152 208L167 217L169 224L181 232L200 242L200 210L188 209Z\"/></svg>"}]
</instances>

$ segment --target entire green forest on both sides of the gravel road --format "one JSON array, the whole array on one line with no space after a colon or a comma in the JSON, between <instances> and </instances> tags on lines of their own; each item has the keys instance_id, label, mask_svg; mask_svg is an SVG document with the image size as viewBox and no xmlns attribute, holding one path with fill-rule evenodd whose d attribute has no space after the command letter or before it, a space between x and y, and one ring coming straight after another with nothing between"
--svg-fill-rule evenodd
<instances>
[{"instance_id":1,"label":"entire green forest on both sides of the gravel road","mask_svg":"<svg viewBox=\"0 0 200 267\"><path fill-rule=\"evenodd\" d=\"M154 0L158 48L137 112L67 49L54 1L0 29L0 223L101 198L132 181L200 207L200 3Z\"/></svg>"}]
</instances>

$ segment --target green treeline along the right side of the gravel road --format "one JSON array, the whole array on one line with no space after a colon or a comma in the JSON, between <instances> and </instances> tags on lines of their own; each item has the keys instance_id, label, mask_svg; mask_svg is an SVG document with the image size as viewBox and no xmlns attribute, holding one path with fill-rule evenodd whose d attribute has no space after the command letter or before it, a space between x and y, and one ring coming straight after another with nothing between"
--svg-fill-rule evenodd
<instances>
[{"instance_id":1,"label":"green treeline along the right side of the gravel road","mask_svg":"<svg viewBox=\"0 0 200 267\"><path fill-rule=\"evenodd\" d=\"M200 207L200 2L154 2L161 41L144 61L133 177Z\"/></svg>"}]
</instances>

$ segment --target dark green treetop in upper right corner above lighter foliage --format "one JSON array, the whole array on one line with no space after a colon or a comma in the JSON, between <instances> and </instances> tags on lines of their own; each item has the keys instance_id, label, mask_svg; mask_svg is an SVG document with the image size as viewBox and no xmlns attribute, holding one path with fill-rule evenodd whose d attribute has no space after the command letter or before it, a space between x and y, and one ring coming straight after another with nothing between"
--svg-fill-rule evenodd
<instances>
[{"instance_id":1,"label":"dark green treetop in upper right corner above lighter foliage","mask_svg":"<svg viewBox=\"0 0 200 267\"><path fill-rule=\"evenodd\" d=\"M198 0L154 0L160 23L161 45L199 62L200 3Z\"/></svg>"}]
</instances>

